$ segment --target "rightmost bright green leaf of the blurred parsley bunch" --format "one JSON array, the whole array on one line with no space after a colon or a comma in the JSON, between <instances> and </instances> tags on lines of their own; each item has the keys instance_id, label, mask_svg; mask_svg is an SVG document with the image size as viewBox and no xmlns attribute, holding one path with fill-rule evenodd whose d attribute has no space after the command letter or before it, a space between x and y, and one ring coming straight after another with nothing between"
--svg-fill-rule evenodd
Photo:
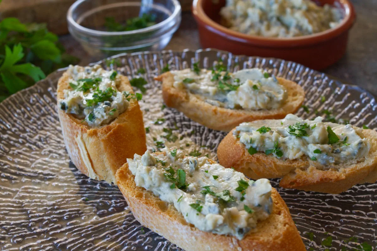
<instances>
[{"instance_id":1,"label":"rightmost bright green leaf of the blurred parsley bunch","mask_svg":"<svg viewBox=\"0 0 377 251\"><path fill-rule=\"evenodd\" d=\"M41 60L52 60L55 63L61 62L60 50L49 40L41 40L33 44L31 50Z\"/></svg>"}]
</instances>

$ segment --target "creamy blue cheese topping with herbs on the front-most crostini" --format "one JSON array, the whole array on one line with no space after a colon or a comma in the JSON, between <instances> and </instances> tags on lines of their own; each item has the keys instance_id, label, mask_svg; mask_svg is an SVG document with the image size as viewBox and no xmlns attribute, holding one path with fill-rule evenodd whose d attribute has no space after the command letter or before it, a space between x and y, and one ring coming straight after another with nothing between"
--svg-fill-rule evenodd
<instances>
[{"instance_id":1,"label":"creamy blue cheese topping with herbs on the front-most crostini","mask_svg":"<svg viewBox=\"0 0 377 251\"><path fill-rule=\"evenodd\" d=\"M199 230L242 239L270 215L267 179L248 180L232 168L211 164L207 157L185 156L179 149L163 148L162 153L147 151L127 159L135 183L173 204Z\"/></svg>"}]
</instances>

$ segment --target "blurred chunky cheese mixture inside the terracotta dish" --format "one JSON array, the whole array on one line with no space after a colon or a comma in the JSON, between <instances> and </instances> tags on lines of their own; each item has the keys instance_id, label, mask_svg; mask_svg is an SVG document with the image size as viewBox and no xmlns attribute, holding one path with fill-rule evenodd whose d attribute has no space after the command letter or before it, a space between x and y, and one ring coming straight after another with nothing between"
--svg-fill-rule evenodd
<instances>
[{"instance_id":1,"label":"blurred chunky cheese mixture inside the terracotta dish","mask_svg":"<svg viewBox=\"0 0 377 251\"><path fill-rule=\"evenodd\" d=\"M310 0L227 0L220 14L230 29L263 37L310 35L343 19L342 9Z\"/></svg>"}]
</instances>

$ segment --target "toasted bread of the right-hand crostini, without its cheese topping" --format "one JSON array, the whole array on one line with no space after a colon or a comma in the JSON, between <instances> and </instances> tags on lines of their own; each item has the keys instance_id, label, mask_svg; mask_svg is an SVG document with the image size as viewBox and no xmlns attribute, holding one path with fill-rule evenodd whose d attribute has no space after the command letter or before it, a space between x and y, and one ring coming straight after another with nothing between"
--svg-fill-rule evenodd
<instances>
[{"instance_id":1,"label":"toasted bread of the right-hand crostini, without its cheese topping","mask_svg":"<svg viewBox=\"0 0 377 251\"><path fill-rule=\"evenodd\" d=\"M268 125L268 121L264 124ZM233 130L220 142L217 156L222 166L233 167L251 179L282 178L280 187L338 194L356 184L377 180L377 132L363 129L363 134L371 141L368 156L328 170L317 169L320 164L309 158L282 160L265 153L250 155L233 136Z\"/></svg>"}]
</instances>

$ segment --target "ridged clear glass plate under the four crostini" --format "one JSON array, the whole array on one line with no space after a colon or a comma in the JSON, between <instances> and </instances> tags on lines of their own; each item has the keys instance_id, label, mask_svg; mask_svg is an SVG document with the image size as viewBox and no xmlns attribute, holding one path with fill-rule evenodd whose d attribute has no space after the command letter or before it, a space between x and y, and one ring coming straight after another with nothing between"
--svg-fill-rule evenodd
<instances>
[{"instance_id":1,"label":"ridged clear glass plate under the four crostini","mask_svg":"<svg viewBox=\"0 0 377 251\"><path fill-rule=\"evenodd\" d=\"M328 109L336 119L377 127L372 95L293 62L234 56L216 50L120 55L110 67L129 77L135 77L139 68L147 71L143 74L149 83L145 102L139 103L145 126L150 127L149 149L155 148L153 136L166 135L162 132L166 128L178 135L176 143L189 145L185 147L188 151L197 149L216 158L225 133L207 129L174 109L163 108L160 84L153 76L167 63L171 69L182 69L200 60L201 67L211 67L218 58L231 71L260 67L299 83L306 92L305 105L309 108L309 113L303 109L297 113L303 118L314 118L316 110ZM109 63L104 61L102 65L107 67ZM56 106L55 91L61 74L62 71L55 72L0 103L0 250L180 250L143 228L128 210L118 188L88 179L69 161ZM157 118L165 121L155 125ZM167 141L169 144L172 143ZM271 183L277 187L277 180ZM377 184L358 185L340 195L279 187L277 190L290 208L308 249L351 250L363 242L376 246L376 188ZM329 242L329 236L331 248L322 245ZM357 240L348 242L350 237Z\"/></svg>"}]
</instances>

